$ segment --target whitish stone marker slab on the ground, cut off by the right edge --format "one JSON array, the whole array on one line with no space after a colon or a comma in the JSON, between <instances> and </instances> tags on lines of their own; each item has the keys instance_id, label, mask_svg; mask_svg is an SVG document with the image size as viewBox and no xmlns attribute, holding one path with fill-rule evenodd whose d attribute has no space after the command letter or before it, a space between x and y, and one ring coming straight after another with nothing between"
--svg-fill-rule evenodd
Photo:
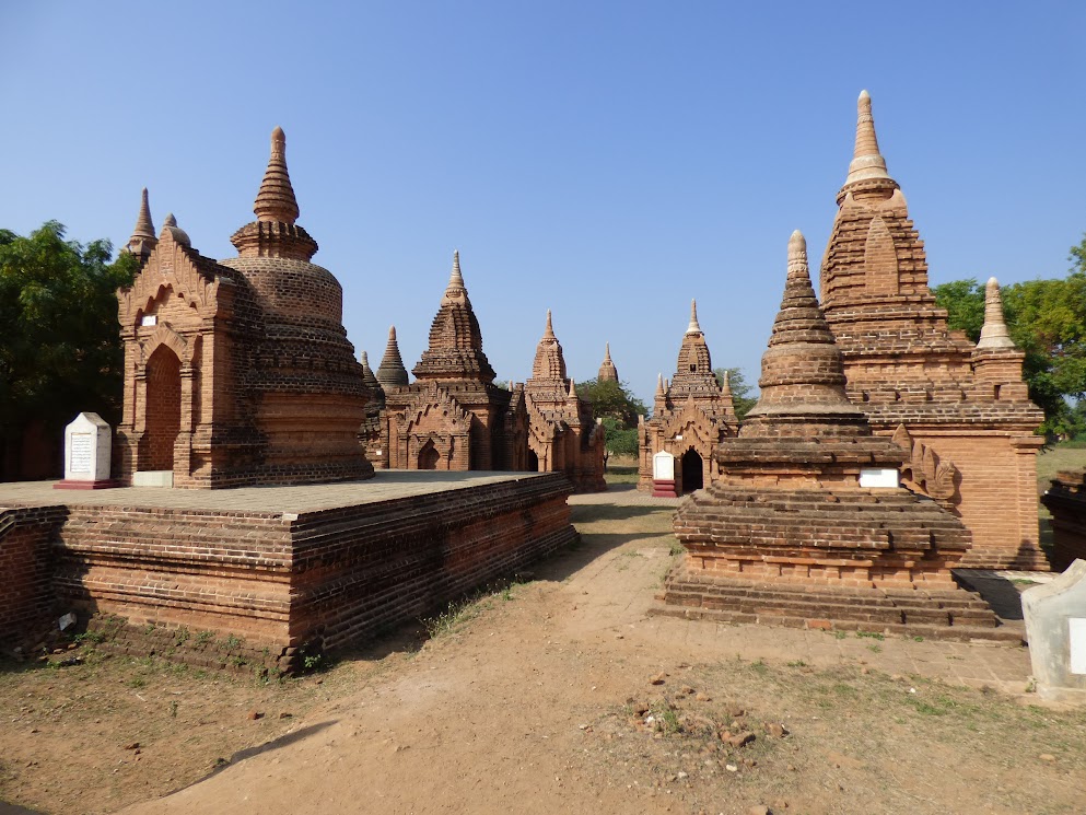
<instances>
[{"instance_id":1,"label":"whitish stone marker slab on the ground, cut off by the right edge","mask_svg":"<svg viewBox=\"0 0 1086 815\"><path fill-rule=\"evenodd\" d=\"M1086 705L1086 560L1023 592L1021 610L1038 695Z\"/></svg>"}]
</instances>

